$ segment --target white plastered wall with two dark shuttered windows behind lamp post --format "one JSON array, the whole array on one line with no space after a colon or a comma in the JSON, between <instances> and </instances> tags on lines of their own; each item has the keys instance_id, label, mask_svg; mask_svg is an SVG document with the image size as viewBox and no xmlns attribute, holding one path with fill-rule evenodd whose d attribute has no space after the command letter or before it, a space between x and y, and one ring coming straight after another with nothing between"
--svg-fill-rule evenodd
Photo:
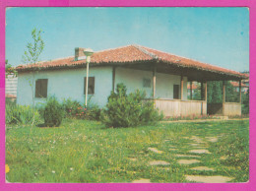
<instances>
[{"instance_id":1,"label":"white plastered wall with two dark shuttered windows behind lamp post","mask_svg":"<svg viewBox=\"0 0 256 191\"><path fill-rule=\"evenodd\" d=\"M56 96L59 100L71 98L85 103L84 78L86 68L40 71L35 72L34 85L36 79L48 79L47 96ZM111 67L91 67L89 77L95 77L95 95L89 96L89 104L96 103L99 106L105 105L107 96L112 90L112 68ZM18 80L18 104L32 104L32 73L20 73ZM44 103L45 98L34 98L35 104Z\"/></svg>"}]
</instances>

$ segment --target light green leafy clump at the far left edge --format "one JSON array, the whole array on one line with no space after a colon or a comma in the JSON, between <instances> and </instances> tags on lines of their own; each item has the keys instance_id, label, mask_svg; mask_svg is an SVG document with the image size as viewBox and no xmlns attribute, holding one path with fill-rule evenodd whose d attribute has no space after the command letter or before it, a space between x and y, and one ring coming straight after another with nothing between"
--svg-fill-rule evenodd
<instances>
[{"instance_id":1,"label":"light green leafy clump at the far left edge","mask_svg":"<svg viewBox=\"0 0 256 191\"><path fill-rule=\"evenodd\" d=\"M14 102L7 102L5 109L5 119L7 124L30 124L38 122L40 115L36 109L27 105L18 105Z\"/></svg>"}]
</instances>

